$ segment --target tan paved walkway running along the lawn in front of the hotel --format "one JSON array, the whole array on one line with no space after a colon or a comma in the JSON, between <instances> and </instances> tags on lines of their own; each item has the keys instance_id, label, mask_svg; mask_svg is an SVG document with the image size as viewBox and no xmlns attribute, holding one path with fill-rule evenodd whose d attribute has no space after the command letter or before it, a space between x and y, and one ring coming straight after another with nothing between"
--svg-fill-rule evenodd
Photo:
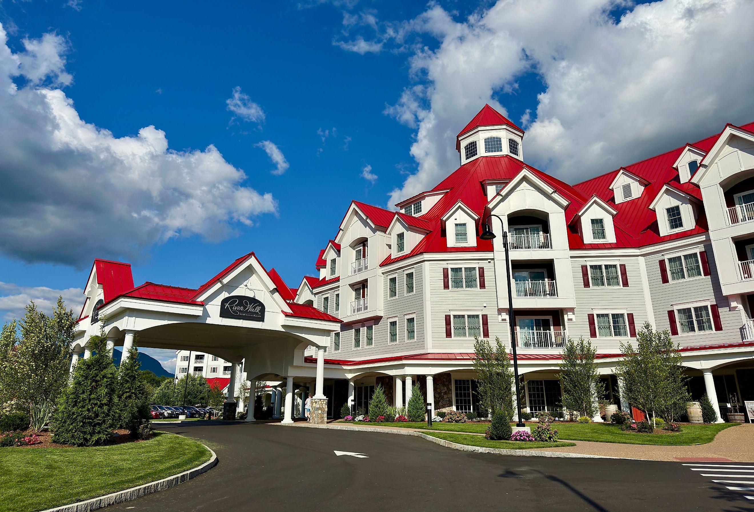
<instances>
[{"instance_id":1,"label":"tan paved walkway running along the lawn in front of the hotel","mask_svg":"<svg viewBox=\"0 0 754 512\"><path fill-rule=\"evenodd\" d=\"M307 422L296 422L297 427L309 426ZM348 427L351 423L338 422ZM375 423L363 425L384 428L385 430L428 432L421 428L381 427ZM449 432L464 434L465 432ZM476 434L483 435L483 434ZM564 439L565 440L565 439ZM562 448L537 448L542 452L584 453L622 459L643 459L654 461L687 461L688 459L728 459L734 462L754 462L754 425L744 423L719 432L711 443L691 446L655 446L650 444L596 443L593 441L569 441L576 446Z\"/></svg>"}]
</instances>

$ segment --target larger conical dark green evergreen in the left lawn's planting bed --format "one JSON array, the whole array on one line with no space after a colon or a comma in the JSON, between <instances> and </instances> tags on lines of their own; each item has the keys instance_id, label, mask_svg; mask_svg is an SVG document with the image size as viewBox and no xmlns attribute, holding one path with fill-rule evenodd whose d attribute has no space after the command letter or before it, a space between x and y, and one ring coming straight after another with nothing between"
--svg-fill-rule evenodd
<instances>
[{"instance_id":1,"label":"larger conical dark green evergreen in the left lawn's planting bed","mask_svg":"<svg viewBox=\"0 0 754 512\"><path fill-rule=\"evenodd\" d=\"M53 440L74 446L95 446L112 439L116 370L107 337L102 332L89 339L96 351L78 361L71 385L55 411Z\"/></svg>"}]
</instances>

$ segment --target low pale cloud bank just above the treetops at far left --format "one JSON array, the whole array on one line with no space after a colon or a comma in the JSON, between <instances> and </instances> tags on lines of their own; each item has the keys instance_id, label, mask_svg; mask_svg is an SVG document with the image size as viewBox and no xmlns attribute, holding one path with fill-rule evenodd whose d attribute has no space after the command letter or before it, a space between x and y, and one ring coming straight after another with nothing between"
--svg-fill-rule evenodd
<instances>
[{"instance_id":1,"label":"low pale cloud bank just above the treetops at far left","mask_svg":"<svg viewBox=\"0 0 754 512\"><path fill-rule=\"evenodd\" d=\"M78 318L81 306L84 305L84 291L81 288L54 290L46 286L20 286L0 282L0 316L5 321L13 318L20 320L25 314L23 309L31 300L41 312L51 314L57 297L63 297L66 307L73 309L73 314Z\"/></svg>"}]
</instances>

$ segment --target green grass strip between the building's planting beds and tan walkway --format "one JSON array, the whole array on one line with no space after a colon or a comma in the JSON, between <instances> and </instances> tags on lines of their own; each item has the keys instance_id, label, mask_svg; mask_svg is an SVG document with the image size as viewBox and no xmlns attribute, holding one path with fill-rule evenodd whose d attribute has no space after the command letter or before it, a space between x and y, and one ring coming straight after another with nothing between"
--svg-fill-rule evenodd
<instances>
[{"instance_id":1,"label":"green grass strip between the building's planting beds and tan walkway","mask_svg":"<svg viewBox=\"0 0 754 512\"><path fill-rule=\"evenodd\" d=\"M359 423L363 426L391 426L404 428L428 429L426 423ZM536 423L527 423L532 430ZM618 425L611 423L553 423L558 430L561 440L572 441L597 441L599 443L627 443L627 444L653 444L653 445L690 445L706 444L713 440L719 431L738 425L738 423L716 423L713 425L682 425L682 431L673 434L639 434L637 432L624 432ZM472 434L484 434L489 423L433 423L434 431L466 432Z\"/></svg>"}]
</instances>

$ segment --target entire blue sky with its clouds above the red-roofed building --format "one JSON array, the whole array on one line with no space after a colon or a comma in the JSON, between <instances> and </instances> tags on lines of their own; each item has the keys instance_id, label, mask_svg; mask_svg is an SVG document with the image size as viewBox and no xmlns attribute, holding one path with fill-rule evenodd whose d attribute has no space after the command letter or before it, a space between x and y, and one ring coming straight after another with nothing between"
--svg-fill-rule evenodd
<instances>
[{"instance_id":1,"label":"entire blue sky with its clouds above the red-roofed building","mask_svg":"<svg viewBox=\"0 0 754 512\"><path fill-rule=\"evenodd\" d=\"M452 172L455 133L485 102L527 130L528 163L570 182L754 120L754 57L724 50L752 42L734 29L751 14L743 0L0 2L0 82L19 91L0 83L0 314L75 302L96 257L195 287L256 251L298 285L350 200L388 206Z\"/></svg>"}]
</instances>

